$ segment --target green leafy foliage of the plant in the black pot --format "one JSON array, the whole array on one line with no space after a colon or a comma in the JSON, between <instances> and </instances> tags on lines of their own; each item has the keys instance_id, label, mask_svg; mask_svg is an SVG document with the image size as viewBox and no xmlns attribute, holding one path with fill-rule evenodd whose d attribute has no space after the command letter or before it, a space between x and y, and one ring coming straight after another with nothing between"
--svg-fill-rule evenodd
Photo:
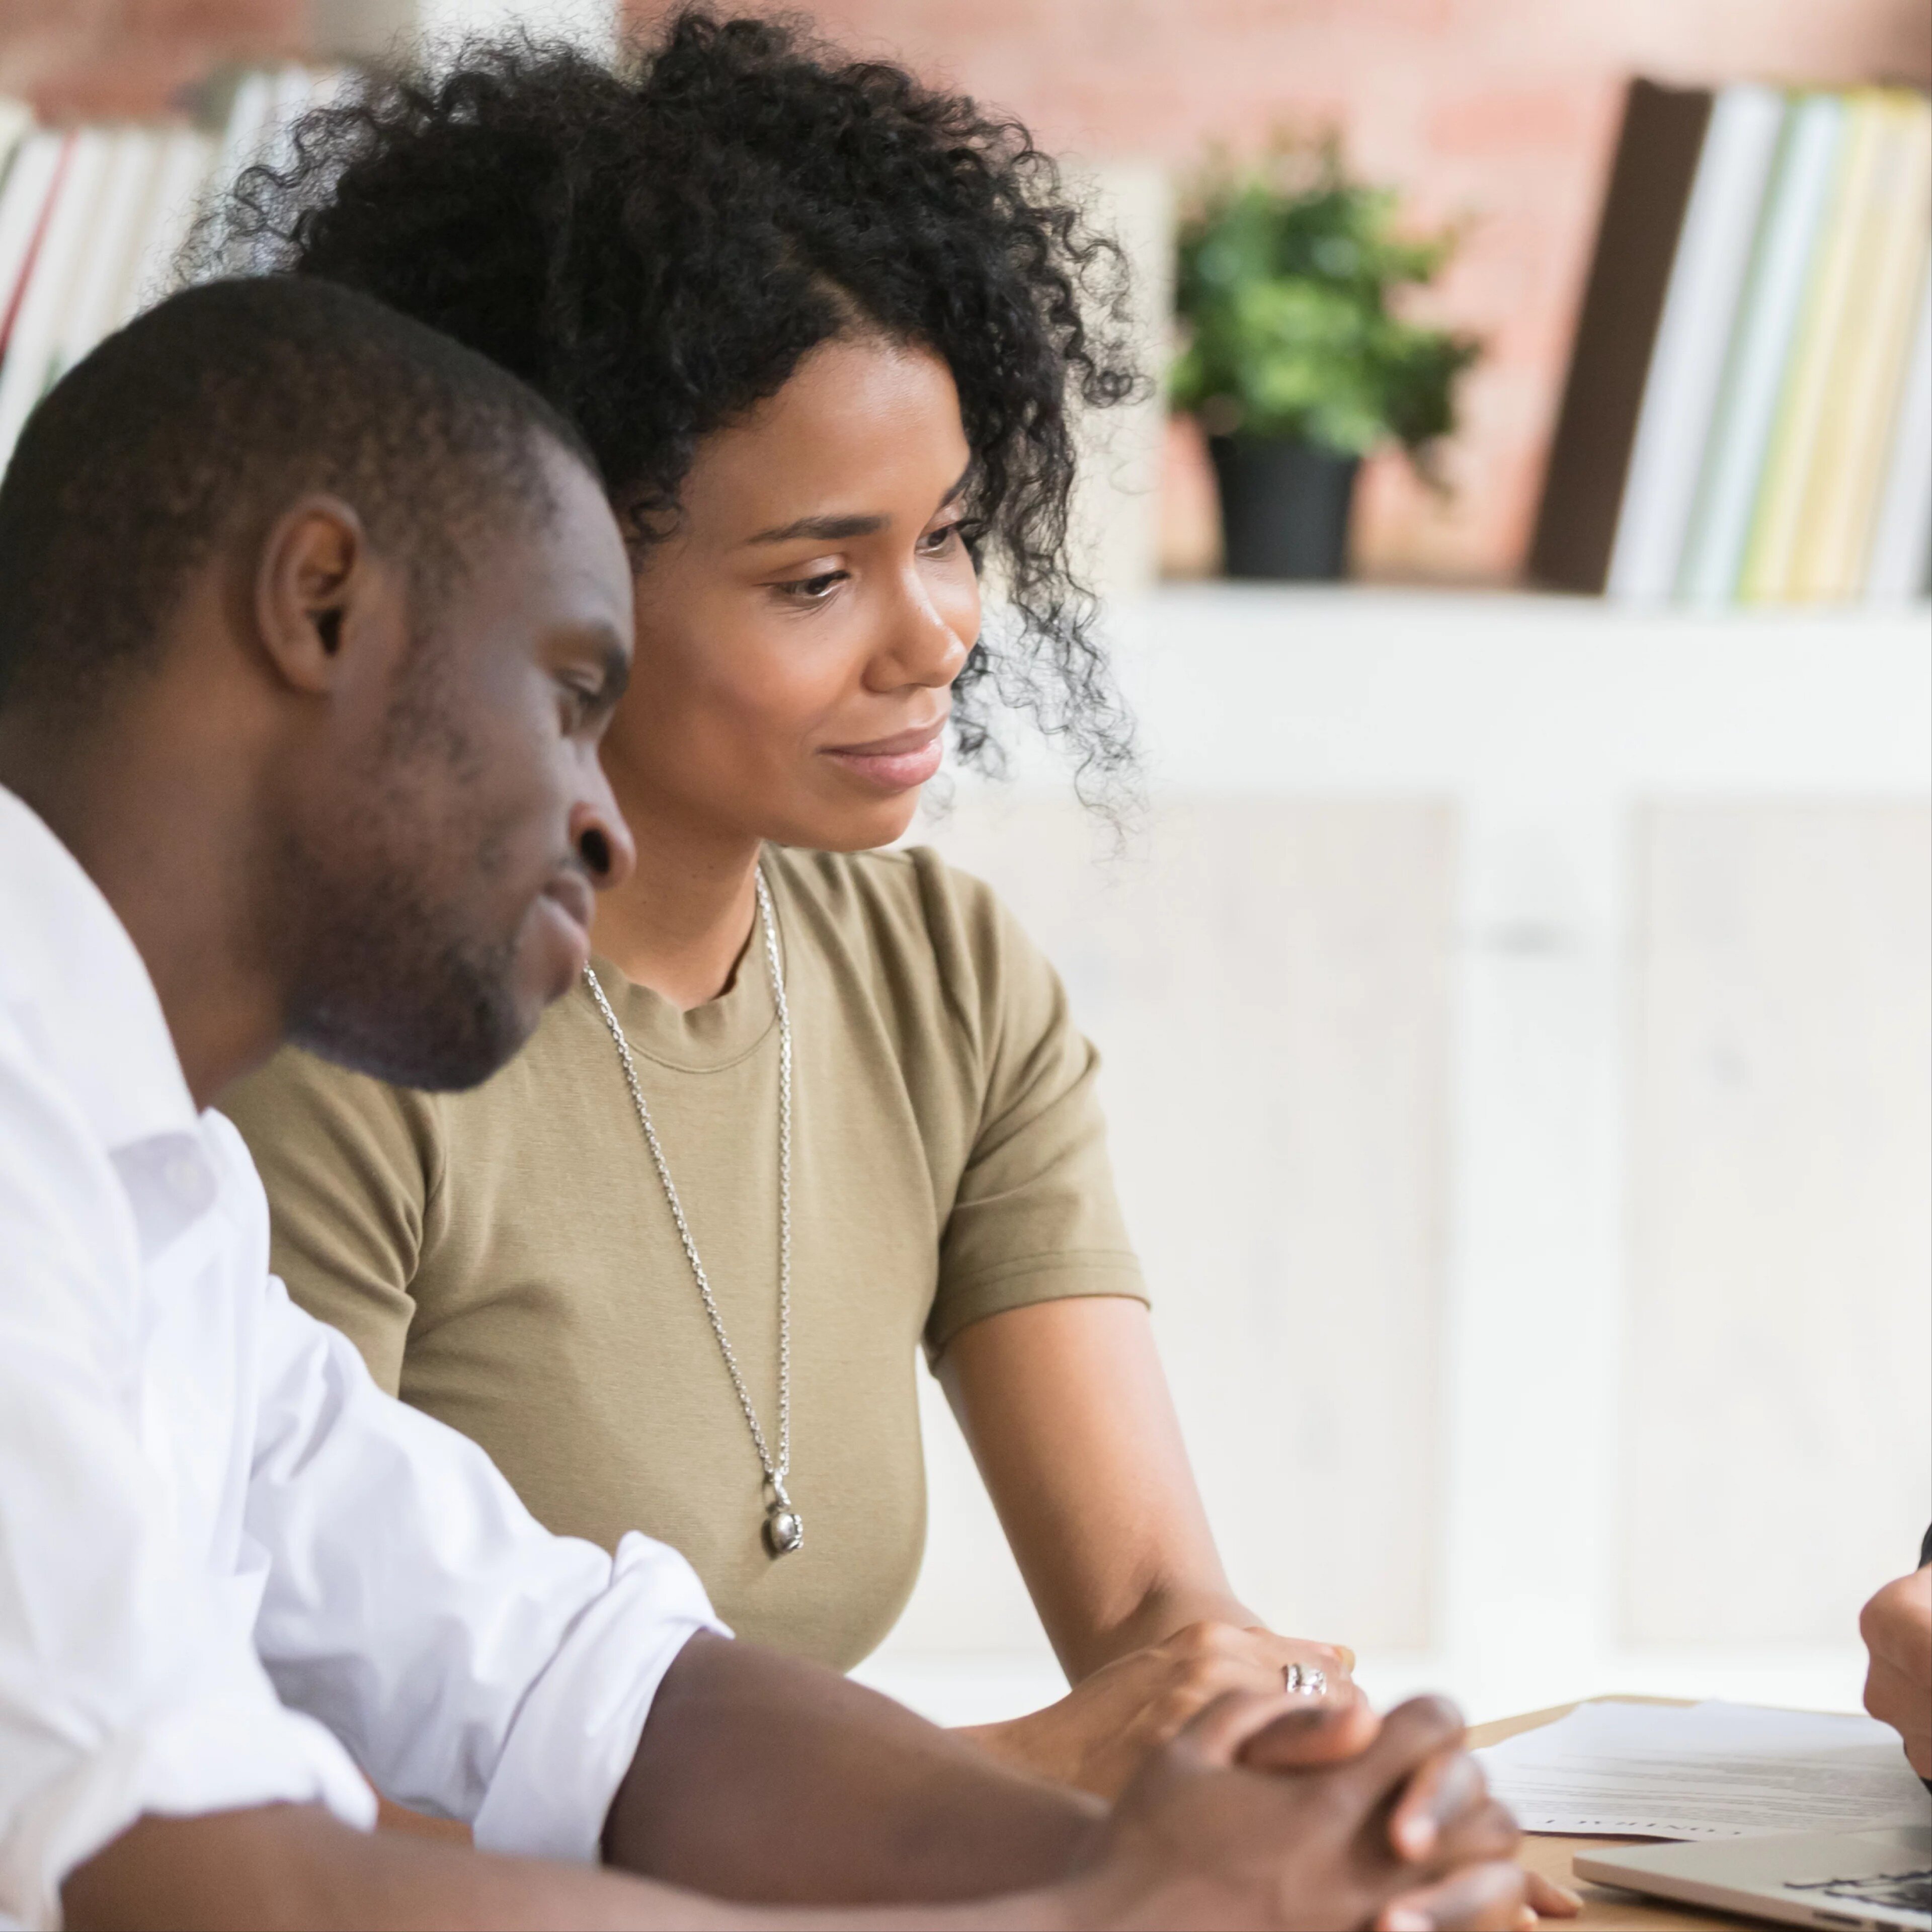
<instances>
[{"instance_id":1,"label":"green leafy foliage of the plant in the black pot","mask_svg":"<svg viewBox=\"0 0 1932 1932\"><path fill-rule=\"evenodd\" d=\"M1403 321L1391 296L1432 282L1457 240L1399 236L1395 193L1352 182L1335 135L1217 164L1180 228L1175 404L1215 435L1356 456L1393 439L1432 475L1480 344Z\"/></svg>"}]
</instances>

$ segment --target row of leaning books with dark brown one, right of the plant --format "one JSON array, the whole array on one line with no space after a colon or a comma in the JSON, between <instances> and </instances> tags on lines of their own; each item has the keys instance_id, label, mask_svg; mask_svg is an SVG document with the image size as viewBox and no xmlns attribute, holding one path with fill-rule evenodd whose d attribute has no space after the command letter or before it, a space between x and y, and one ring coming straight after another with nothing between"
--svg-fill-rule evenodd
<instances>
[{"instance_id":1,"label":"row of leaning books with dark brown one, right of the plant","mask_svg":"<svg viewBox=\"0 0 1932 1932\"><path fill-rule=\"evenodd\" d=\"M1631 87L1530 570L1631 603L1932 576L1932 100Z\"/></svg>"}]
</instances>

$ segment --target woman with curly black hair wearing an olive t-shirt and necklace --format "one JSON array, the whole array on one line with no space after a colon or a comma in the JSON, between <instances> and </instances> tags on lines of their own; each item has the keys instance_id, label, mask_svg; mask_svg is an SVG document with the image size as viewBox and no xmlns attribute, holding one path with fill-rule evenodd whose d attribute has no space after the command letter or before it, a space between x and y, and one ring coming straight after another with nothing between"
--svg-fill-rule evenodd
<instances>
[{"instance_id":1,"label":"woman with curly black hair wearing an olive t-shirt and necklace","mask_svg":"<svg viewBox=\"0 0 1932 1932\"><path fill-rule=\"evenodd\" d=\"M1068 410L1134 377L1053 164L686 14L622 75L471 50L311 118L230 238L535 383L636 562L638 866L585 985L475 1094L290 1053L226 1101L298 1300L547 1524L645 1528L838 1667L918 1573L923 1341L1074 1685L980 1733L1034 1770L1113 1791L1223 1689L1339 1681L1229 1590L1059 981L985 887L877 850L947 732L993 753L995 690L1084 779L1128 763L1065 533Z\"/></svg>"}]
</instances>

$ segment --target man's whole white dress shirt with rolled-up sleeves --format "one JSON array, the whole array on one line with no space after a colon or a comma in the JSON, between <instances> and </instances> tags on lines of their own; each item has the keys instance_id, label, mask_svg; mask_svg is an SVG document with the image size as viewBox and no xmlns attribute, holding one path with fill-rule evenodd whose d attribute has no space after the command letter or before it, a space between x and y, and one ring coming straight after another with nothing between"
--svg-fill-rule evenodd
<instances>
[{"instance_id":1,"label":"man's whole white dress shirt with rolled-up sleeves","mask_svg":"<svg viewBox=\"0 0 1932 1932\"><path fill-rule=\"evenodd\" d=\"M143 1812L367 1828L357 1766L595 1859L697 1629L680 1555L551 1536L288 1300L133 941L0 788L0 1922Z\"/></svg>"}]
</instances>

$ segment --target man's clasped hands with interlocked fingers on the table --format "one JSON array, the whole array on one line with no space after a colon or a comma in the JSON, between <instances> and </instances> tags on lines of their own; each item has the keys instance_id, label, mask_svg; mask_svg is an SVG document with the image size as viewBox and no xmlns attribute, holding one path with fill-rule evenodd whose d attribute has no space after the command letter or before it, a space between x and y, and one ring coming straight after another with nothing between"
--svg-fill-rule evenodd
<instances>
[{"instance_id":1,"label":"man's clasped hands with interlocked fingers on the table","mask_svg":"<svg viewBox=\"0 0 1932 1932\"><path fill-rule=\"evenodd\" d=\"M1416 1698L1366 1748L1296 1768L1298 1750L1358 1747L1364 1727L1360 1706L1329 1718L1287 1696L1219 1698L1121 1795L1068 1917L1273 1932L1520 1924L1517 1828L1464 1756L1455 1708ZM1399 1816L1414 1851L1397 1849Z\"/></svg>"}]
</instances>

